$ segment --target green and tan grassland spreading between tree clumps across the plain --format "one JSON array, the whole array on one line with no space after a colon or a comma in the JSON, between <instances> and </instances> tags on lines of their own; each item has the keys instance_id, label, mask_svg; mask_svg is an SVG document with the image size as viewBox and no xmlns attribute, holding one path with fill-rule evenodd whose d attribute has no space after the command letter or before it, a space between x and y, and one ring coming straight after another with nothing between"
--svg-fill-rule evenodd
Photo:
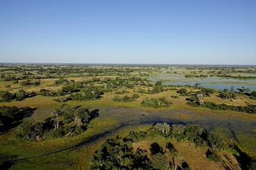
<instances>
[{"instance_id":1,"label":"green and tan grassland spreading between tree clumps across the plain","mask_svg":"<svg viewBox=\"0 0 256 170\"><path fill-rule=\"evenodd\" d=\"M17 69L17 67L22 69L32 68L33 70L19 71L19 68ZM40 77L40 85L20 85L20 81L24 81L25 79L29 79L31 81L38 80L38 78L35 79L30 74L27 78L20 79L18 84L13 84L13 81L4 81L4 77L2 76L0 81L1 91L8 90L8 92L12 93L16 93L20 89L24 89L28 93L38 93L40 92L40 89L58 91L61 90L62 87L65 87L63 84L54 84L54 82L59 80L60 77L67 80L74 80L75 82L99 78L100 81L92 83L92 85L95 87L100 87L102 85L108 85L107 83L103 82L104 79L108 78L118 81L116 80L118 78L129 78L129 76L136 76L142 80L148 80L150 76L157 76L163 73L163 71L166 71L166 73L168 71L170 72L167 74L174 74L174 72L176 72L175 74L191 74L191 71L196 71L198 74L209 74L209 71L215 70L217 72L219 70L218 68L203 69L202 67L188 68L184 66L73 66L74 71L69 71L69 69L61 70L61 68L65 67L70 67L70 70L72 70L72 66L17 67L12 66L12 69L15 68L15 71L10 69L10 67L0 67L1 74L4 75L5 78L6 76L20 78L22 74L28 74L28 72L30 72L33 74L33 76ZM38 72L38 67L42 69L42 73ZM6 68L8 68L8 70L6 70ZM46 76L47 70L51 71L51 69L52 71L55 71L55 73L51 74L53 76L52 78L48 78ZM60 69L60 71L58 71L58 69ZM85 71L83 71L83 69ZM248 71L248 69L252 71L250 73L245 73ZM227 70L230 72L234 69L232 68ZM227 70L225 73L227 73ZM252 72L255 71L255 67L239 67L235 70L241 71L241 75L246 76L246 74L252 74ZM236 73L236 71L233 71L234 73L232 73L232 75L240 74ZM132 96L132 94L138 93L138 90L140 89L146 91L152 90L154 87L154 82L148 82L153 86L141 85L138 83L138 81L129 80L129 83L136 83L136 85L133 87L125 87L124 85L117 85L117 87L113 87L109 85L108 92L104 92L104 95L102 95L102 98L100 99L88 101L71 100L65 102L65 104L70 106L83 106L90 108L90 110L99 109L99 117L92 120L90 123L90 128L79 136L74 136L71 138L52 138L37 142L24 141L15 138L15 133L17 132L17 129L19 129L19 126L10 129L10 131L2 132L0 135L0 154L2 155L3 159L1 159L0 162L2 161L3 163L5 160L15 160L9 162L11 169L51 169L51 167L56 166L56 164L58 164L56 169L86 169L86 167L89 166L88 159L106 139L113 138L116 135L128 134L130 131L147 129L156 122L200 124L202 127L207 129L207 131L220 134L223 138L227 139L229 143L236 143L236 145L240 146L244 152L254 159L256 158L256 115L240 113L237 111L220 111L210 110L202 107L191 107L186 104L187 96L180 96L180 94L177 93L177 89L182 87L176 86L164 86L164 92L140 94L138 99L127 103L113 101L113 97L116 95L115 93L121 92L122 90L126 90L127 93L120 94L120 96ZM8 85L10 85L10 87L8 87ZM186 89L189 92L196 92L200 90L198 87L186 87ZM244 94L239 95L237 99L232 101L221 99L218 97L219 94L220 92L216 90L216 92L211 94L211 96L204 97L204 101L212 101L220 104L224 103L232 106L246 106L248 104L256 105L255 99L250 99L250 97ZM67 94L67 96L69 95ZM174 99L171 96L179 96L179 98ZM166 100L172 102L173 104L169 108L141 107L141 102L143 99L160 97L165 97ZM60 98L60 96L46 97L36 95L34 97L23 99L22 101L1 102L0 106L35 108L36 110L33 115L31 117L24 118L23 122L40 122L44 121L45 118L52 117L52 112L55 108L60 108L61 103L53 100L58 98ZM142 147L144 144L137 143L134 145ZM189 147L191 150L193 150L193 147L186 143L175 144L175 147L177 147L180 152L184 153L184 155L190 161L191 155L186 155L187 150L182 150L184 146L186 146L187 150ZM203 153L204 150L195 150L195 152L193 151L193 154L195 153L195 155L200 155L201 152ZM193 167L196 167L198 164L205 162L204 160L198 160L198 162L193 162L191 160L189 163L193 165Z\"/></svg>"}]
</instances>

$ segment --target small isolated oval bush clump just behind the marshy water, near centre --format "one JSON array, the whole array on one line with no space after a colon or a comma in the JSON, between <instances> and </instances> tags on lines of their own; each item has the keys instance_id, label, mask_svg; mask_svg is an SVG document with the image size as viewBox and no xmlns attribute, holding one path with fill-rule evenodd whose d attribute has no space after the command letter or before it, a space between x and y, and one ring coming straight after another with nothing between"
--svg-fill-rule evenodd
<instances>
[{"instance_id":1,"label":"small isolated oval bush clump just behind the marshy water, near centre","mask_svg":"<svg viewBox=\"0 0 256 170\"><path fill-rule=\"evenodd\" d=\"M172 103L167 101L165 98L159 99L144 99L141 102L141 106L143 107L152 107L152 108L163 108L170 107Z\"/></svg>"}]
</instances>

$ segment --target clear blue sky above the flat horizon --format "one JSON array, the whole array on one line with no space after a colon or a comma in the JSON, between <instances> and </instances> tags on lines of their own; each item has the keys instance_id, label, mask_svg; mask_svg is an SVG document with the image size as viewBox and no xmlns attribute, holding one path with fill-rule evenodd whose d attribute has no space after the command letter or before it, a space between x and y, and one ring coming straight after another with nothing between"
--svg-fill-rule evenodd
<instances>
[{"instance_id":1,"label":"clear blue sky above the flat horizon","mask_svg":"<svg viewBox=\"0 0 256 170\"><path fill-rule=\"evenodd\" d=\"M0 62L255 65L256 0L3 0Z\"/></svg>"}]
</instances>

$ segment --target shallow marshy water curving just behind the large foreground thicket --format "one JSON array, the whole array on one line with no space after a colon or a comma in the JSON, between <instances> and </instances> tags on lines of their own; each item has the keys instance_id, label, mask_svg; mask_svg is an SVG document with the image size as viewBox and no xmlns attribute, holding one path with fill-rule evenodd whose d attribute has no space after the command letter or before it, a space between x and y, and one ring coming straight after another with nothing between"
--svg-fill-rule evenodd
<instances>
[{"instance_id":1,"label":"shallow marshy water curving just behind the large foreground thicket","mask_svg":"<svg viewBox=\"0 0 256 170\"><path fill-rule=\"evenodd\" d=\"M227 117L216 113L196 113L189 110L154 111L146 113L134 108L102 108L101 118L113 117L122 127L128 125L155 124L198 124L209 132L216 132L230 143L238 143L256 157L256 121L239 117ZM118 129L116 129L117 131ZM107 134L106 134L107 135Z\"/></svg>"}]
</instances>

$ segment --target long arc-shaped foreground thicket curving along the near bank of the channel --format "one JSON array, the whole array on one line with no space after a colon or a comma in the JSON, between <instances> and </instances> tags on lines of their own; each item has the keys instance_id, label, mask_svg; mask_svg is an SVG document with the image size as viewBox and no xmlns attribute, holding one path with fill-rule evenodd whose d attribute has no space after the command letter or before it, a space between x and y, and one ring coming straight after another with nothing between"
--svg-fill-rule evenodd
<instances>
[{"instance_id":1,"label":"long arc-shaped foreground thicket curving along the near bank of the channel","mask_svg":"<svg viewBox=\"0 0 256 170\"><path fill-rule=\"evenodd\" d=\"M108 139L93 154L90 160L92 169L179 169L179 165L182 169L190 169L186 161L180 159L179 152L170 142L166 143L167 150L156 142L150 144L149 150L136 148L134 151L132 148L134 142L156 139L159 135L177 141L190 141L196 146L208 146L205 156L216 162L220 161L216 155L217 151L234 150L220 136L209 134L197 125L157 123L146 132L130 132L125 138L116 136L114 139ZM172 157L170 162L167 156Z\"/></svg>"}]
</instances>

